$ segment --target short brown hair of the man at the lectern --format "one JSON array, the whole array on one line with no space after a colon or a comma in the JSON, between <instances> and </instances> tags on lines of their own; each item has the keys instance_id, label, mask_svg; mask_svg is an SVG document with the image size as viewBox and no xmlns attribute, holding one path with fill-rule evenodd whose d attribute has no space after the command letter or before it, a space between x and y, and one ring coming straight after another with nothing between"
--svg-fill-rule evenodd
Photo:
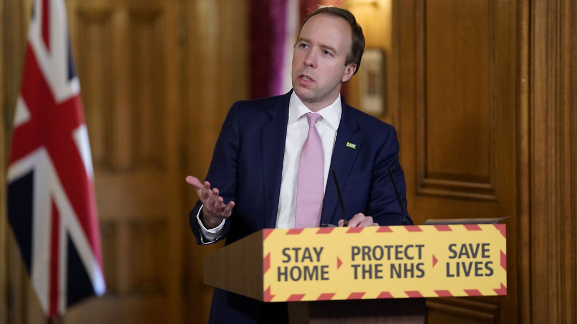
<instances>
[{"instance_id":1,"label":"short brown hair of the man at the lectern","mask_svg":"<svg viewBox=\"0 0 577 324\"><path fill-rule=\"evenodd\" d=\"M301 29L298 31L299 35L302 31L302 27L305 25L306 21L310 19L310 17L316 16L317 14L328 14L329 16L343 18L351 27L351 35L353 36L353 42L351 45L351 51L347 55L347 59L344 62L344 65L349 65L350 63L357 63L357 69L355 73L359 70L359 66L361 66L361 58L362 54L365 51L365 35L362 33L361 25L358 24L355 16L346 9L342 9L335 6L319 6L316 10L306 16L305 20L302 21Z\"/></svg>"}]
</instances>

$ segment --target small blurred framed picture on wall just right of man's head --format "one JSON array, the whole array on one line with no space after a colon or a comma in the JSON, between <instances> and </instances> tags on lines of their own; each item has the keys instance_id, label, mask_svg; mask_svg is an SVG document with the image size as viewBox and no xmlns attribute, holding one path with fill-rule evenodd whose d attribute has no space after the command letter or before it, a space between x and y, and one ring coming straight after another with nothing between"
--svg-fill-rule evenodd
<instances>
[{"instance_id":1,"label":"small blurred framed picture on wall just right of man's head","mask_svg":"<svg viewBox=\"0 0 577 324\"><path fill-rule=\"evenodd\" d=\"M385 107L385 57L380 48L367 48L359 69L360 109L376 117L387 114Z\"/></svg>"}]
</instances>

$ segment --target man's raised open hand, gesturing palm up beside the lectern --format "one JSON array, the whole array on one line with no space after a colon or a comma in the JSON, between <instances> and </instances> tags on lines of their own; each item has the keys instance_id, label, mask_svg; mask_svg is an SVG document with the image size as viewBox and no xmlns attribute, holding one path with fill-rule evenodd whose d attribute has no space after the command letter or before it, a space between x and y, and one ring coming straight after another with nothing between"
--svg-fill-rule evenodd
<instances>
[{"instance_id":1,"label":"man's raised open hand, gesturing palm up beside the lectern","mask_svg":"<svg viewBox=\"0 0 577 324\"><path fill-rule=\"evenodd\" d=\"M200 212L200 220L203 222L204 227L207 229L217 227L224 218L230 217L234 201L224 204L222 197L219 195L219 191L216 188L211 190L211 184L205 181L204 184L200 183L194 176L187 176L186 182L192 184L194 190L198 194L198 198L203 203L203 209Z\"/></svg>"}]
</instances>

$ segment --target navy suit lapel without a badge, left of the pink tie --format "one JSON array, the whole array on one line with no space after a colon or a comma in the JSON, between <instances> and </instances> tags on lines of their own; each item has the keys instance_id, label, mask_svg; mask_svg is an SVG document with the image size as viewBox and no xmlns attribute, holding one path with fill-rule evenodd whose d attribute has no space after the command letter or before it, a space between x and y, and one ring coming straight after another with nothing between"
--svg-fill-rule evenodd
<instances>
[{"instance_id":1,"label":"navy suit lapel without a badge, left of the pink tie","mask_svg":"<svg viewBox=\"0 0 577 324\"><path fill-rule=\"evenodd\" d=\"M266 227L274 228L279 208L280 180L283 173L284 144L288 123L288 101L292 91L279 98L269 110L271 120L263 125L262 152Z\"/></svg>"}]
</instances>

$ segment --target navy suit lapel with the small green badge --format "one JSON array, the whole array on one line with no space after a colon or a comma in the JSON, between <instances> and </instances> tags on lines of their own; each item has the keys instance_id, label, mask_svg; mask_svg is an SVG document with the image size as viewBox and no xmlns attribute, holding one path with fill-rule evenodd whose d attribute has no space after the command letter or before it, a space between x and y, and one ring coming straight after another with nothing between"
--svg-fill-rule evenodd
<instances>
[{"instance_id":1,"label":"navy suit lapel with the small green badge","mask_svg":"<svg viewBox=\"0 0 577 324\"><path fill-rule=\"evenodd\" d=\"M325 196L323 201L323 212L321 213L321 224L328 224L335 214L335 208L338 203L338 196L336 194L335 182L332 178L332 171L336 173L336 179L339 182L340 191L343 191L344 183L349 176L351 167L357 157L359 149L361 149L361 139L356 134L358 130L357 120L353 115L353 108L349 107L344 98L342 98L343 113L340 116L339 129L336 132L335 148L331 157L331 168L329 169L327 188L325 189ZM349 148L346 146L347 142L356 144L357 146ZM343 197L345 199L346 197ZM353 215L347 215L350 219ZM339 217L341 218L339 212Z\"/></svg>"}]
</instances>

